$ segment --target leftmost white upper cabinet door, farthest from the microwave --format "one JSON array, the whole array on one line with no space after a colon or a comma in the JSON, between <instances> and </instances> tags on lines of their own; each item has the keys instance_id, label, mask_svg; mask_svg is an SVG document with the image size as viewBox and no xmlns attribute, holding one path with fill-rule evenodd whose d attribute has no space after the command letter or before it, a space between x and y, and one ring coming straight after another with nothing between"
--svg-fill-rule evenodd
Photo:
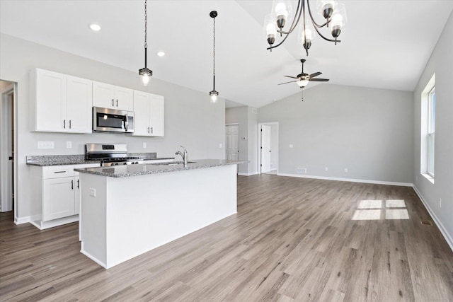
<instances>
[{"instance_id":1,"label":"leftmost white upper cabinet door, farthest from the microwave","mask_svg":"<svg viewBox=\"0 0 453 302\"><path fill-rule=\"evenodd\" d=\"M67 76L36 70L35 131L66 132Z\"/></svg>"}]
</instances>

